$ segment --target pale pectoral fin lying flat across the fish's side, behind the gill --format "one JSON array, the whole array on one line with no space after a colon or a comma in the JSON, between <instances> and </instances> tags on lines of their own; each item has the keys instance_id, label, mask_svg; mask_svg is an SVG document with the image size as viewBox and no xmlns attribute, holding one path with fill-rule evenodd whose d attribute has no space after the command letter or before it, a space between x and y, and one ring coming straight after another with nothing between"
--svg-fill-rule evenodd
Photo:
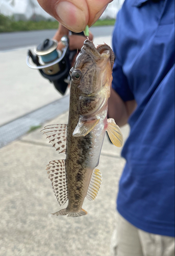
<instances>
[{"instance_id":1,"label":"pale pectoral fin lying flat across the fish's side, behind the gill","mask_svg":"<svg viewBox=\"0 0 175 256\"><path fill-rule=\"evenodd\" d=\"M99 119L83 120L79 118L78 124L73 132L74 137L82 137L89 134L95 125L99 122Z\"/></svg>"}]
</instances>

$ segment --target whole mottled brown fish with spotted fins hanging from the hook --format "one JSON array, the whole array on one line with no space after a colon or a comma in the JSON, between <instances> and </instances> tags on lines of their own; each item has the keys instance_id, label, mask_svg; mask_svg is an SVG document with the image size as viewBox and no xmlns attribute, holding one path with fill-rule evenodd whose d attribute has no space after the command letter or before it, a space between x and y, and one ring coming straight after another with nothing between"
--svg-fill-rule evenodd
<instances>
[{"instance_id":1,"label":"whole mottled brown fish with spotted fins hanging from the hook","mask_svg":"<svg viewBox=\"0 0 175 256\"><path fill-rule=\"evenodd\" d=\"M68 124L47 125L43 134L65 160L53 160L47 165L59 205L68 206L53 215L79 217L86 215L84 198L95 200L102 175L96 168L107 131L112 143L123 145L123 136L113 118L107 119L111 94L114 53L104 44L97 48L86 39L70 70L70 106Z\"/></svg>"}]
</instances>

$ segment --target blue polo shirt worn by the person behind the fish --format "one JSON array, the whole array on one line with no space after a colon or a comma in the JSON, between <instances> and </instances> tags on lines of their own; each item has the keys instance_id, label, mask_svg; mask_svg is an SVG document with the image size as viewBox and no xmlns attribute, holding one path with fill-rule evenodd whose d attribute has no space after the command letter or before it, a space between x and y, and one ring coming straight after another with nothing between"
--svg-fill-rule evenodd
<instances>
[{"instance_id":1,"label":"blue polo shirt worn by the person behind the fish","mask_svg":"<svg viewBox=\"0 0 175 256\"><path fill-rule=\"evenodd\" d=\"M137 102L117 209L142 230L174 236L174 0L125 0L113 50L112 86Z\"/></svg>"}]
</instances>

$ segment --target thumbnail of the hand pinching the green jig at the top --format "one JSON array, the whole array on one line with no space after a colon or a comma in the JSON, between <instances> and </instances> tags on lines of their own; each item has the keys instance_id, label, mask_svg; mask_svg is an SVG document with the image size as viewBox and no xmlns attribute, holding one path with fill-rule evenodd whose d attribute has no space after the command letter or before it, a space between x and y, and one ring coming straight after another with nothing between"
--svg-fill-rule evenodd
<instances>
[{"instance_id":1,"label":"thumbnail of the hand pinching the green jig at the top","mask_svg":"<svg viewBox=\"0 0 175 256\"><path fill-rule=\"evenodd\" d=\"M68 1L59 1L56 5L56 13L65 27L75 32L81 32L85 28L85 15L82 10Z\"/></svg>"}]
</instances>

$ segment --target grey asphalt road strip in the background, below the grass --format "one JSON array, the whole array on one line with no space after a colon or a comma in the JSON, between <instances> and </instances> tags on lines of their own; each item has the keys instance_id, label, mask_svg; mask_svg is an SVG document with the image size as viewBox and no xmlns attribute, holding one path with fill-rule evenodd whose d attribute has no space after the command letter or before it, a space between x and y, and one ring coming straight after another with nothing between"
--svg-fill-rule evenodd
<instances>
[{"instance_id":1,"label":"grey asphalt road strip in the background, below the grass","mask_svg":"<svg viewBox=\"0 0 175 256\"><path fill-rule=\"evenodd\" d=\"M110 36L113 26L93 27L90 30L95 35ZM37 30L25 32L0 33L0 51L38 45L45 38L52 38L56 30Z\"/></svg>"}]
</instances>

